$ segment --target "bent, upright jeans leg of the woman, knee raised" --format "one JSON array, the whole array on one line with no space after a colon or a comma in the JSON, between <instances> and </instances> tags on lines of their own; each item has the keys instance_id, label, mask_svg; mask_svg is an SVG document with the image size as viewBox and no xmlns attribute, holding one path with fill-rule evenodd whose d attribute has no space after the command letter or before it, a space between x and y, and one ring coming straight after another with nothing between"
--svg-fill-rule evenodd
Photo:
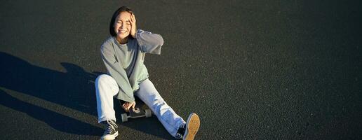
<instances>
[{"instance_id":1,"label":"bent, upright jeans leg of the woman, knee raised","mask_svg":"<svg viewBox=\"0 0 362 140\"><path fill-rule=\"evenodd\" d=\"M95 80L97 97L98 123L105 120L116 120L113 109L113 97L119 92L116 80L107 74L98 76Z\"/></svg>"}]
</instances>

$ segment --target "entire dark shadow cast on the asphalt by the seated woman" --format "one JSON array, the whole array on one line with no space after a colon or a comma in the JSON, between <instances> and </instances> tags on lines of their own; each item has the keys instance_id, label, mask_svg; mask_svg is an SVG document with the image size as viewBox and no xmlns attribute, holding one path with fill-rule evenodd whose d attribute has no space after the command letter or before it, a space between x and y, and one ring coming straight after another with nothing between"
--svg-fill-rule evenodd
<instances>
[{"instance_id":1,"label":"entire dark shadow cast on the asphalt by the seated woman","mask_svg":"<svg viewBox=\"0 0 362 140\"><path fill-rule=\"evenodd\" d=\"M64 62L61 64L67 72L34 66L23 59L6 52L0 52L0 73L2 73L0 87L98 116L94 80L96 76L102 73L88 73L75 64ZM22 102L2 90L0 90L0 99L0 104L27 113L29 116L62 132L85 135L101 135L103 132L100 127L94 127L60 113ZM159 130L160 127L164 128L155 117L121 123L120 116L124 111L120 108L119 102L115 101L114 103L116 118L119 120L117 123L120 125L163 139L173 139L166 130ZM122 131L121 129L122 127L119 131Z\"/></svg>"}]
</instances>

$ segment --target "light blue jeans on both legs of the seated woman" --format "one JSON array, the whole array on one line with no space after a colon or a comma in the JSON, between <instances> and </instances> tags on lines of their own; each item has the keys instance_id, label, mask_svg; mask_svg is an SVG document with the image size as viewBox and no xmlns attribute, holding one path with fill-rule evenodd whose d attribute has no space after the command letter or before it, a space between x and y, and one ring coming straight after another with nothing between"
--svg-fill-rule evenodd
<instances>
[{"instance_id":1,"label":"light blue jeans on both legs of the seated woman","mask_svg":"<svg viewBox=\"0 0 362 140\"><path fill-rule=\"evenodd\" d=\"M116 80L107 74L98 76L95 80L95 94L97 96L98 123L105 120L116 120L113 109L113 97L118 94L119 86ZM159 119L168 133L175 137L178 128L185 123L173 109L166 104L159 92L157 92L151 80L147 79L140 83L140 89L135 93Z\"/></svg>"}]
</instances>

